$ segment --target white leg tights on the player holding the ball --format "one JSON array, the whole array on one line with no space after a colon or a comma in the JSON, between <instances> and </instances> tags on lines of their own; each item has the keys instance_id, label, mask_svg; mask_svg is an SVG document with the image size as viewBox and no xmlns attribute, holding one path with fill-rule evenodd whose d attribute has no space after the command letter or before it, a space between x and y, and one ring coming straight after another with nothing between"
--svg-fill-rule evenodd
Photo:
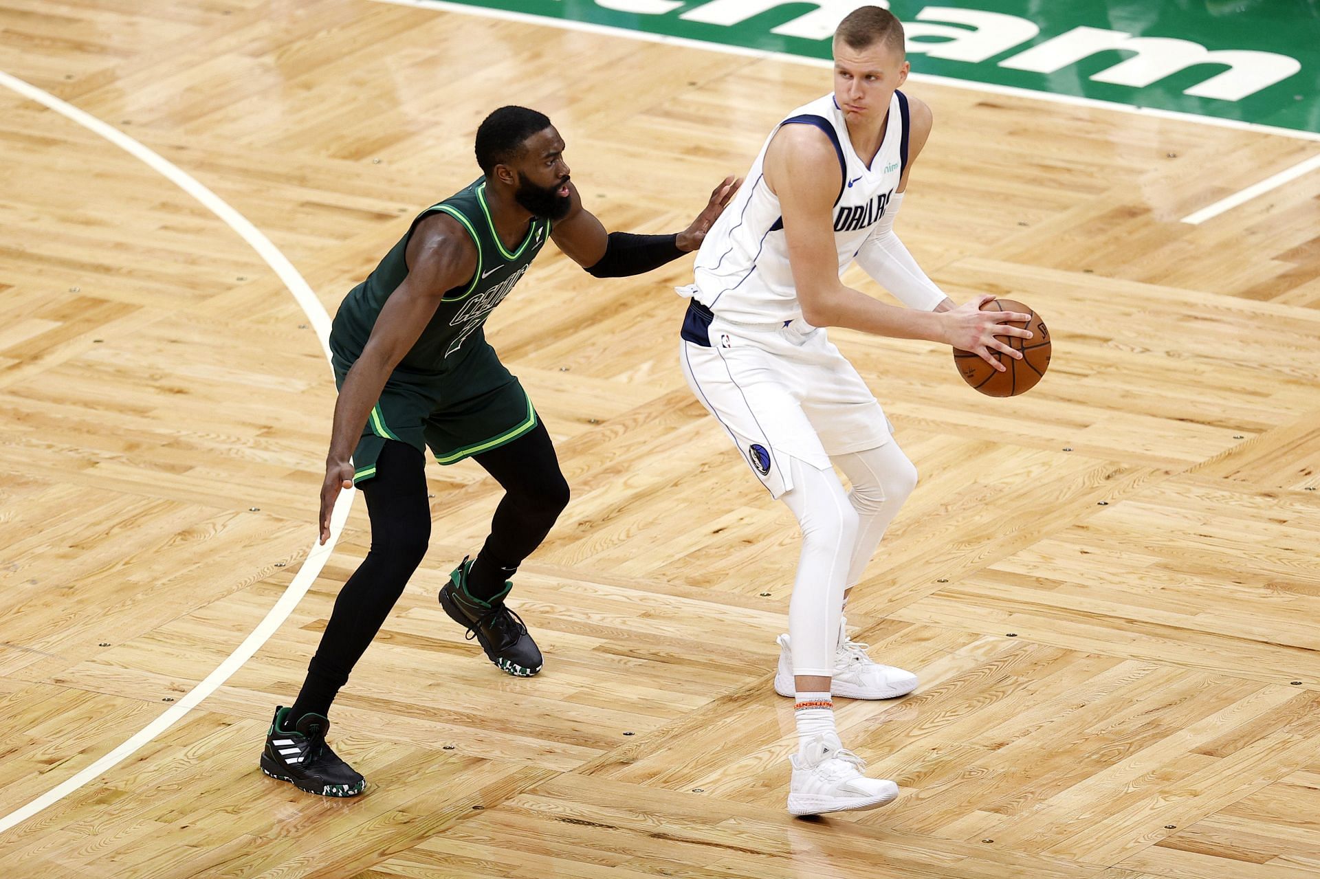
<instances>
[{"instance_id":1,"label":"white leg tights on the player holding the ball","mask_svg":"<svg viewBox=\"0 0 1320 879\"><path fill-rule=\"evenodd\" d=\"M862 578L884 529L916 487L916 467L892 440L830 461L853 491L843 491L833 469L792 458L793 487L780 496L803 529L788 603L795 676L833 676L843 591Z\"/></svg>"}]
</instances>

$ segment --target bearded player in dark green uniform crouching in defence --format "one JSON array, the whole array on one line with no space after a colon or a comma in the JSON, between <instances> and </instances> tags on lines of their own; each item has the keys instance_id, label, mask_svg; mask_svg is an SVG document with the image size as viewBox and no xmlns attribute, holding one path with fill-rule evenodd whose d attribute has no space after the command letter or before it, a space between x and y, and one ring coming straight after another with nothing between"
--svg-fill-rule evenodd
<instances>
[{"instance_id":1,"label":"bearded player in dark green uniform crouching in defence","mask_svg":"<svg viewBox=\"0 0 1320 879\"><path fill-rule=\"evenodd\" d=\"M541 652L508 608L510 578L568 504L549 434L482 325L545 243L597 277L640 275L697 249L738 189L726 178L677 235L606 234L582 206L564 140L544 115L502 107L477 131L482 177L422 211L334 319L339 387L321 490L321 542L342 488L367 498L371 550L335 601L297 701L277 707L261 769L323 796L366 781L325 744L330 703L421 564L430 537L425 453L473 458L504 488L477 558L440 604L502 670L532 676ZM351 463L350 463L351 455Z\"/></svg>"}]
</instances>

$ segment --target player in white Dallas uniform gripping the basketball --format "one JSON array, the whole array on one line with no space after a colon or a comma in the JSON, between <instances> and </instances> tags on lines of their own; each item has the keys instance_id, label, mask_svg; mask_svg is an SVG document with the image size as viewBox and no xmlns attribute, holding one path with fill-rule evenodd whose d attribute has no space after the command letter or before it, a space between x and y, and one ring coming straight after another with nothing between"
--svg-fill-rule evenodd
<instances>
[{"instance_id":1,"label":"player in white Dallas uniform gripping the basketball","mask_svg":"<svg viewBox=\"0 0 1320 879\"><path fill-rule=\"evenodd\" d=\"M878 7L843 18L834 92L771 132L701 245L696 284L681 290L692 296L680 352L689 385L803 531L775 676L775 690L796 697L793 814L870 809L898 796L843 748L833 697L892 698L917 684L846 634L846 590L916 486L916 469L824 327L942 342L997 370L1005 367L991 352L1022 355L995 337L1031 337L999 323L1028 315L979 310L993 297L956 308L894 235L931 133L929 107L898 91L907 73L898 18ZM854 260L908 308L845 286L840 275Z\"/></svg>"}]
</instances>

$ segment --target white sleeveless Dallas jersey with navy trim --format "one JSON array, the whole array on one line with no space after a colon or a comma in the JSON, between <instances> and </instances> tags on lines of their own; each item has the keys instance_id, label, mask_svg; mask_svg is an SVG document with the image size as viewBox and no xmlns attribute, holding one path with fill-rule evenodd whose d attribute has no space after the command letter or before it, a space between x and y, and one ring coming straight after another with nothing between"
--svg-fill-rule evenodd
<instances>
[{"instance_id":1,"label":"white sleeveless Dallas jersey with navy trim","mask_svg":"<svg viewBox=\"0 0 1320 879\"><path fill-rule=\"evenodd\" d=\"M783 125L816 125L834 144L843 179L834 202L834 245L842 275L871 234L907 168L908 103L890 99L884 140L870 166L853 150L843 111L825 95L788 115L766 139L747 172L747 183L715 220L697 253L694 298L738 323L792 321L803 314L788 265L788 243L779 198L766 185L766 149Z\"/></svg>"}]
</instances>

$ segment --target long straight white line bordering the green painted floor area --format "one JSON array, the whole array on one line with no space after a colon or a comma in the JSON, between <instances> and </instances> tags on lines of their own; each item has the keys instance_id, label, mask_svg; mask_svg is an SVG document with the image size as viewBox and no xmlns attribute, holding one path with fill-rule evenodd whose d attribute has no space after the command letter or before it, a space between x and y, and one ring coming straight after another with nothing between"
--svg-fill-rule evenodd
<instances>
[{"instance_id":1,"label":"long straight white line bordering the green painted floor area","mask_svg":"<svg viewBox=\"0 0 1320 879\"><path fill-rule=\"evenodd\" d=\"M830 69L834 66L832 61L825 58L808 58L805 55L793 55L787 51L770 51L768 49L748 49L747 46L731 46L723 42L706 42L704 40L690 40L688 37L671 37L663 33L648 33L645 30L630 30L627 28L615 28L612 25L598 25L587 21L573 21L570 18L554 18L550 16L536 16L527 12L510 12L507 9L487 9L486 7L470 7L465 3L447 3L446 0L372 0L374 3L389 3L396 7L413 7L416 9L440 9L442 12L455 12L465 16L477 16L482 18L502 18L504 21L520 21L523 24L543 25L546 28L558 28L561 30L581 30L583 33L598 33L610 37L622 37L624 40L640 40L643 42L659 42L669 46L684 46L685 49L697 49L704 51L718 51L726 55L744 55L747 58L764 58L771 61L781 61L791 65L803 65L807 67L824 67ZM1060 95L1049 91L1035 91L1031 88L1019 88L1016 86L998 86L989 82L977 82L975 79L958 79L956 77L939 77L936 74L909 74L908 79L913 82L928 82L936 86L950 86L954 88L966 88L969 91L985 91L991 95L1012 95L1015 98L1032 98L1035 100L1047 100L1055 104L1071 104L1073 107L1090 107L1097 110L1113 110L1121 114L1131 114L1135 116L1152 116L1155 119L1173 119L1177 121L1199 123L1201 125L1217 125L1220 128L1236 128L1238 131L1254 131L1262 135L1279 135L1282 137L1292 137L1296 140L1315 140L1320 141L1320 132L1312 131L1299 131L1296 128L1282 128L1279 125L1262 125L1259 123L1241 121L1238 119L1220 119L1218 116L1201 116L1199 114L1187 114L1177 110L1158 110L1155 107L1137 107L1133 104L1122 104L1115 100L1100 100L1097 98L1081 98L1077 95Z\"/></svg>"}]
</instances>

